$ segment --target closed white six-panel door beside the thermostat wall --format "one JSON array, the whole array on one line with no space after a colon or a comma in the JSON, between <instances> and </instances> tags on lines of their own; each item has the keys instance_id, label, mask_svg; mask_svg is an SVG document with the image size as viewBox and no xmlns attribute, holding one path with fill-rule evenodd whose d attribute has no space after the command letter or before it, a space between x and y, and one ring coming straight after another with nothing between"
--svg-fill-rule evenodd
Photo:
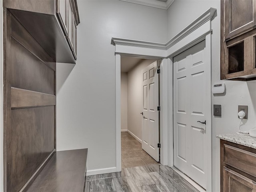
<instances>
[{"instance_id":1,"label":"closed white six-panel door beside the thermostat wall","mask_svg":"<svg viewBox=\"0 0 256 192\"><path fill-rule=\"evenodd\" d=\"M206 188L205 40L173 58L174 166ZM209 129L210 131L210 129Z\"/></svg>"}]
</instances>

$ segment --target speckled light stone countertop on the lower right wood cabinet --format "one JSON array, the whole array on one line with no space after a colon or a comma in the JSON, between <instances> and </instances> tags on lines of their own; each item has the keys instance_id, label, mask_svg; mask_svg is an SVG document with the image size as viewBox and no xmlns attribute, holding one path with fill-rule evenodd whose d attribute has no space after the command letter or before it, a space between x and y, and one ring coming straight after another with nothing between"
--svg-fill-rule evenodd
<instances>
[{"instance_id":1,"label":"speckled light stone countertop on the lower right wood cabinet","mask_svg":"<svg viewBox=\"0 0 256 192\"><path fill-rule=\"evenodd\" d=\"M241 144L251 148L256 148L256 138L249 135L239 135L237 133L216 135L217 138L230 141L232 143Z\"/></svg>"}]
</instances>

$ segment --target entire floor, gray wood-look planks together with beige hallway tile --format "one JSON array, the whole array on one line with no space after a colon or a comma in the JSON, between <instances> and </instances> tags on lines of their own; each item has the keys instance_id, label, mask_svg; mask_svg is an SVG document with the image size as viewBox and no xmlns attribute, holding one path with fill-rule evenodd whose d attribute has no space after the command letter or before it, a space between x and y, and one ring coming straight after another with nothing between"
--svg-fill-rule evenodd
<instances>
[{"instance_id":1,"label":"entire floor, gray wood-look planks together with beige hallway tile","mask_svg":"<svg viewBox=\"0 0 256 192\"><path fill-rule=\"evenodd\" d=\"M122 132L122 171L86 176L85 192L198 192L172 168L153 160Z\"/></svg>"}]
</instances>

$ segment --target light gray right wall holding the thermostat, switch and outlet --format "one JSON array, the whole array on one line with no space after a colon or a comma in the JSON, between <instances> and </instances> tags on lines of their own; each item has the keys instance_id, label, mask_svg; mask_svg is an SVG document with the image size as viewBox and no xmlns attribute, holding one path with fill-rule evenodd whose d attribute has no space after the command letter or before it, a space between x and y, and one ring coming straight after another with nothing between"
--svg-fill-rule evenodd
<instances>
[{"instance_id":1,"label":"light gray right wall holding the thermostat, switch and outlet","mask_svg":"<svg viewBox=\"0 0 256 192\"><path fill-rule=\"evenodd\" d=\"M212 104L222 105L222 117L212 117L213 192L219 192L220 140L215 136L238 131L238 105L248 105L244 130L256 125L256 81L220 81L220 0L175 0L168 9L168 39L210 7L217 9L217 17L212 21L212 83L226 83L226 94L212 96Z\"/></svg>"}]
</instances>

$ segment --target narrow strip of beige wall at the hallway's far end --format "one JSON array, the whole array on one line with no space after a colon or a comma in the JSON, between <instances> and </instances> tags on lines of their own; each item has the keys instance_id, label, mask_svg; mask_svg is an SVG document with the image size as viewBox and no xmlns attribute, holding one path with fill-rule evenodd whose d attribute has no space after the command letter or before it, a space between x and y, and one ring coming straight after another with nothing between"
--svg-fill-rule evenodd
<instances>
[{"instance_id":1,"label":"narrow strip of beige wall at the hallway's far end","mask_svg":"<svg viewBox=\"0 0 256 192\"><path fill-rule=\"evenodd\" d=\"M121 73L121 130L127 130L127 73Z\"/></svg>"}]
</instances>

